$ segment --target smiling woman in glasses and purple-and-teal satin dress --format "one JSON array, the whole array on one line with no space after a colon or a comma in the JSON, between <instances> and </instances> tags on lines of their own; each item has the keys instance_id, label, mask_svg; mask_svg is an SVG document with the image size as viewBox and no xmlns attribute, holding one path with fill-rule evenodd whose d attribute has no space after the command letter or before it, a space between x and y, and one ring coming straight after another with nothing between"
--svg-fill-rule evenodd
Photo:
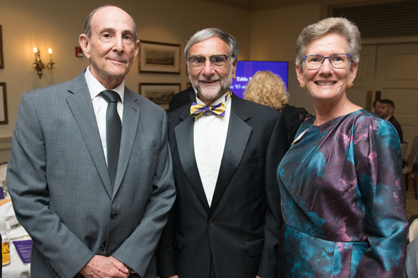
<instances>
[{"instance_id":1,"label":"smiling woman in glasses and purple-and-teal satin dress","mask_svg":"<svg viewBox=\"0 0 418 278\"><path fill-rule=\"evenodd\" d=\"M303 29L296 72L314 102L281 160L280 277L402 277L408 222L396 130L347 99L360 34L343 18Z\"/></svg>"}]
</instances>

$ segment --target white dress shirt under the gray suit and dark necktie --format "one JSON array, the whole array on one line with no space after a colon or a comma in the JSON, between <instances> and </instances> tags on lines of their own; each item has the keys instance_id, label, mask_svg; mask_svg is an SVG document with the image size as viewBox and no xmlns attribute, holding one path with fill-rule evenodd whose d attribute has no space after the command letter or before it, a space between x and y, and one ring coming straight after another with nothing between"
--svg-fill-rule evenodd
<instances>
[{"instance_id":1,"label":"white dress shirt under the gray suit and dark necktie","mask_svg":"<svg viewBox=\"0 0 418 278\"><path fill-rule=\"evenodd\" d=\"M94 115L96 117L96 121L98 122L98 128L100 133L100 140L102 140L102 147L104 152L104 158L106 158L107 163L107 149L106 149L106 111L107 111L107 101L99 95L100 92L106 90L104 86L97 80L93 75L90 73L90 66L87 67L86 73L84 74L86 77L88 91L90 92L91 101L93 102L93 109ZM117 92L121 97L121 101L118 101L117 109L119 117L123 115L123 96L125 94L125 80L118 85L118 87L114 88L113 91Z\"/></svg>"}]
</instances>

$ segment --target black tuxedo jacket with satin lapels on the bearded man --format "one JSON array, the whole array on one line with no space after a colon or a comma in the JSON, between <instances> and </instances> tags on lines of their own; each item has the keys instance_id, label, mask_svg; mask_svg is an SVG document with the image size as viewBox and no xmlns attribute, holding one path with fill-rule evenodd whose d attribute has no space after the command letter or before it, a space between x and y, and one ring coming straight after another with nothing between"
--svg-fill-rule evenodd
<instances>
[{"instance_id":1,"label":"black tuxedo jacket with satin lapels on the bearded man","mask_svg":"<svg viewBox=\"0 0 418 278\"><path fill-rule=\"evenodd\" d=\"M281 113L232 95L219 177L209 206L194 156L189 106L169 113L177 199L157 249L157 274L277 277L282 224L277 166L288 140ZM212 260L212 263L211 263Z\"/></svg>"}]
</instances>

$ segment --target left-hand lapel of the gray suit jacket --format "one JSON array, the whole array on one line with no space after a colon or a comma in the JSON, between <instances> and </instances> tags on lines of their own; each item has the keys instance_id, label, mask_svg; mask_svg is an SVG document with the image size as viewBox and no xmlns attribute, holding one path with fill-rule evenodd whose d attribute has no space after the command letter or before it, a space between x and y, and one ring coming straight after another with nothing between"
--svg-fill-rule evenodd
<instances>
[{"instance_id":1,"label":"left-hand lapel of the gray suit jacket","mask_svg":"<svg viewBox=\"0 0 418 278\"><path fill-rule=\"evenodd\" d=\"M80 133L82 133L84 143L98 170L100 179L102 179L102 183L104 184L107 193L111 196L112 189L109 172L107 170L102 141L100 140L98 124L95 119L93 104L91 102L90 93L88 92L86 79L84 78L84 72L74 80L73 85L74 86L69 89L69 92L71 92L72 95L67 98L67 104L70 106L70 110L77 122Z\"/></svg>"}]
</instances>

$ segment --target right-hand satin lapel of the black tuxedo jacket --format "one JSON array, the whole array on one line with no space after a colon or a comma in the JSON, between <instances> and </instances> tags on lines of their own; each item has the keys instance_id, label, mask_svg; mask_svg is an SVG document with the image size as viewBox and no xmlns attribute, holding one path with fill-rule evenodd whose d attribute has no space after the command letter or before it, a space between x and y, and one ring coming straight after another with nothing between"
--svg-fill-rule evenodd
<instances>
[{"instance_id":1,"label":"right-hand satin lapel of the black tuxedo jacket","mask_svg":"<svg viewBox=\"0 0 418 278\"><path fill-rule=\"evenodd\" d=\"M250 114L244 101L235 95L232 96L231 100L231 116L229 118L228 133L226 134L226 144L211 208L214 208L217 202L219 202L233 174L235 174L252 130L251 126L245 123Z\"/></svg>"}]
</instances>

